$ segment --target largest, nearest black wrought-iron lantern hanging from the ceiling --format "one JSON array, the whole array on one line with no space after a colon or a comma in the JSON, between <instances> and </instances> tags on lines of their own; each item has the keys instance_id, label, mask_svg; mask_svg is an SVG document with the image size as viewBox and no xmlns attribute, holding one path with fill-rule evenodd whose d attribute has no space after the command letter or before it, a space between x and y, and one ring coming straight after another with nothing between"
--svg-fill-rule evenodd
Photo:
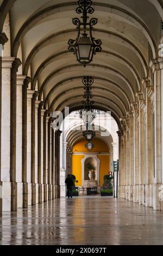
<instances>
[{"instance_id":1,"label":"largest, nearest black wrought-iron lantern hanging from the ceiling","mask_svg":"<svg viewBox=\"0 0 163 256\"><path fill-rule=\"evenodd\" d=\"M68 51L73 52L76 55L77 61L86 66L93 60L93 56L96 52L102 51L102 42L100 39L96 40L92 36L93 26L95 26L98 22L98 19L92 18L90 22L87 22L89 18L87 14L92 14L94 9L91 7L92 1L91 0L79 0L78 1L79 7L77 8L77 14L83 14L82 19L80 21L78 18L73 18L72 22L73 25L77 26L78 35L75 40L70 39L68 41ZM81 29L83 26L83 30ZM89 27L89 35L86 33L86 27Z\"/></svg>"}]
</instances>

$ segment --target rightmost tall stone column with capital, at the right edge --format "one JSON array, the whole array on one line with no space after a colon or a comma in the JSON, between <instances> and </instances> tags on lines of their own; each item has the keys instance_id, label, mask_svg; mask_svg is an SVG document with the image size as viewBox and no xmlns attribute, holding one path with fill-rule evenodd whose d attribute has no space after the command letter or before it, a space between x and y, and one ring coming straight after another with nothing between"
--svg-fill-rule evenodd
<instances>
[{"instance_id":1,"label":"rightmost tall stone column with capital, at the right edge","mask_svg":"<svg viewBox=\"0 0 163 256\"><path fill-rule=\"evenodd\" d=\"M159 198L163 187L162 182L162 82L163 82L163 58L153 60L151 68L154 74L154 184L153 184L153 208L163 209L163 203Z\"/></svg>"}]
</instances>

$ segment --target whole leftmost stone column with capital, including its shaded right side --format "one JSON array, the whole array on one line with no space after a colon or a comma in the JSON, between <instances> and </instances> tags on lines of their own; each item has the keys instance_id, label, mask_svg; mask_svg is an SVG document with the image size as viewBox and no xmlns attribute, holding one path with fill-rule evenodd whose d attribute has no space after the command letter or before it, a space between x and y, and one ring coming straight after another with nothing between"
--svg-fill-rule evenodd
<instances>
[{"instance_id":1,"label":"whole leftmost stone column with capital, including its shaded right side","mask_svg":"<svg viewBox=\"0 0 163 256\"><path fill-rule=\"evenodd\" d=\"M17 210L16 183L16 72L19 59L2 59L2 153L3 210Z\"/></svg>"}]
</instances>

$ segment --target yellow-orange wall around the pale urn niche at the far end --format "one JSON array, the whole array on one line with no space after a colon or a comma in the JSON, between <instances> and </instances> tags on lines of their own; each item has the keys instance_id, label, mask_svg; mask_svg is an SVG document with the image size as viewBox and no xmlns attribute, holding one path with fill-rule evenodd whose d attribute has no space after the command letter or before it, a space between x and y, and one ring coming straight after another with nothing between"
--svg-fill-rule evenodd
<instances>
[{"instance_id":1,"label":"yellow-orange wall around the pale urn niche at the far end","mask_svg":"<svg viewBox=\"0 0 163 256\"><path fill-rule=\"evenodd\" d=\"M95 144L95 148L91 151L91 153L109 153L108 146L101 141L101 139L93 139L93 144ZM73 153L88 153L85 148L86 141L85 139L80 140L74 145L72 151ZM72 155L72 174L76 176L76 186L82 186L82 159L85 155ZM99 168L99 182L100 186L103 185L103 176L109 173L110 167L110 156L109 155L97 155L100 160L100 168Z\"/></svg>"}]
</instances>

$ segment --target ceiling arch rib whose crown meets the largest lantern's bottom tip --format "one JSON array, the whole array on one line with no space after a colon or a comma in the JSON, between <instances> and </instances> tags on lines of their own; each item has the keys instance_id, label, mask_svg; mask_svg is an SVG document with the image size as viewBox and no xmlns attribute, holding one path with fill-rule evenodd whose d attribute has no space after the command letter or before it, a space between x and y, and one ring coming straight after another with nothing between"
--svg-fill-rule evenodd
<instances>
[{"instance_id":1,"label":"ceiling arch rib whose crown meets the largest lantern's bottom tip","mask_svg":"<svg viewBox=\"0 0 163 256\"><path fill-rule=\"evenodd\" d=\"M68 69L68 71L70 72L70 69L73 68L73 71L75 70L75 68L77 67L80 67L82 66L81 64L73 64L73 65L68 65L68 66L65 66L65 67L62 67L61 69L58 69L58 70L55 70L54 72L52 72L52 74L50 74L46 80L42 83L41 85L41 88L39 90L39 100L41 100L42 98L42 93L43 93L43 88L46 87L46 85L48 84L48 82L50 80L52 80L53 77L55 77L55 75L59 75L61 71L64 71L64 74L65 74L65 70ZM111 67L109 66L102 66L102 65L99 65L99 64L89 64L87 65L87 67L98 67L98 69L103 69L103 70L107 70L107 72L110 72L111 74L114 74L118 77L121 78L121 80L123 82L125 82L128 86L128 89L130 90L132 96L133 96L133 101L135 99L135 93L136 91L134 90L134 87L133 87L133 84L128 80L128 78L122 74L120 71L118 70L115 70L115 69L112 69ZM137 88L137 92L139 91L139 88Z\"/></svg>"}]
</instances>

